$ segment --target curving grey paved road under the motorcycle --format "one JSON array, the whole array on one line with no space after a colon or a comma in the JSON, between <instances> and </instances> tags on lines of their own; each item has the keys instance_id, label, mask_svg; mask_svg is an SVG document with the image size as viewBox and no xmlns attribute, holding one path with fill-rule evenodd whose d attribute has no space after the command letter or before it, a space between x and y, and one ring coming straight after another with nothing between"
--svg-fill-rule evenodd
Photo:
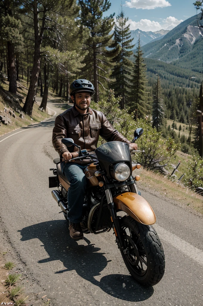
<instances>
[{"instance_id":1,"label":"curving grey paved road under the motorcycle","mask_svg":"<svg viewBox=\"0 0 203 306\"><path fill-rule=\"evenodd\" d=\"M60 113L56 103L48 106ZM149 288L129 275L112 231L87 234L78 242L69 238L48 188L49 168L57 157L53 126L51 118L0 137L3 226L26 269L47 289L51 304L203 306L202 217L142 192L156 213L154 227L166 256L162 281Z\"/></svg>"}]
</instances>

